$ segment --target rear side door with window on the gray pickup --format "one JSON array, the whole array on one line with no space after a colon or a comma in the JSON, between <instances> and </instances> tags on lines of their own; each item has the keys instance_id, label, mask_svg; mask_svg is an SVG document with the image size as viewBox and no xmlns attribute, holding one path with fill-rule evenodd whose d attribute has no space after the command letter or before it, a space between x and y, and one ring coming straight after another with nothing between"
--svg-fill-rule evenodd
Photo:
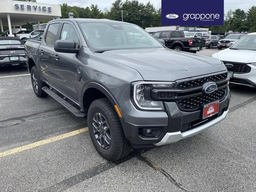
<instances>
[{"instance_id":1,"label":"rear side door with window on the gray pickup","mask_svg":"<svg viewBox=\"0 0 256 192\"><path fill-rule=\"evenodd\" d=\"M59 22L51 23L46 29L45 37L43 37L41 44L38 48L40 69L46 81L50 84L55 84L55 70L53 64L54 44L57 39Z\"/></svg>"}]
</instances>

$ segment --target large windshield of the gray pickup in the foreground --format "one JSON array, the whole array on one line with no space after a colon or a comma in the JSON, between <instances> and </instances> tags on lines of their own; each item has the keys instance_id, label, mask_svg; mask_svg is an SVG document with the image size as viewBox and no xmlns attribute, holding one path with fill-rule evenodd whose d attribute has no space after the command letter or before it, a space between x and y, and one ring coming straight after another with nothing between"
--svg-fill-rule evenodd
<instances>
[{"instance_id":1,"label":"large windshield of the gray pickup in the foreground","mask_svg":"<svg viewBox=\"0 0 256 192\"><path fill-rule=\"evenodd\" d=\"M94 51L163 47L137 25L112 22L79 22L79 25Z\"/></svg>"}]
</instances>

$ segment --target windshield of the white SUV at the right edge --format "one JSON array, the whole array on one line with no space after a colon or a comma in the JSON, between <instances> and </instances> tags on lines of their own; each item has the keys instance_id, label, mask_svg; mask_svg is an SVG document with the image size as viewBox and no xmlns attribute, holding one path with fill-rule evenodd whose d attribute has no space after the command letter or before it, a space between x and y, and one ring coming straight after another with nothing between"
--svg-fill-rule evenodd
<instances>
[{"instance_id":1,"label":"windshield of the white SUV at the right edge","mask_svg":"<svg viewBox=\"0 0 256 192\"><path fill-rule=\"evenodd\" d=\"M236 41L230 49L256 50L256 35L246 35Z\"/></svg>"}]
</instances>

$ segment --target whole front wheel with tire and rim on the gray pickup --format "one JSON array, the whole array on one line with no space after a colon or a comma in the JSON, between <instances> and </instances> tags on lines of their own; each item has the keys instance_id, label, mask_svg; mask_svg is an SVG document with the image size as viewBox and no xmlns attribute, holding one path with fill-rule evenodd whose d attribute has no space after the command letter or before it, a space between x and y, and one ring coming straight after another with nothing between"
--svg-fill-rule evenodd
<instances>
[{"instance_id":1,"label":"whole front wheel with tire and rim on the gray pickup","mask_svg":"<svg viewBox=\"0 0 256 192\"><path fill-rule=\"evenodd\" d=\"M116 161L130 153L117 113L107 98L92 102L87 123L92 143L98 153L109 161Z\"/></svg>"}]
</instances>

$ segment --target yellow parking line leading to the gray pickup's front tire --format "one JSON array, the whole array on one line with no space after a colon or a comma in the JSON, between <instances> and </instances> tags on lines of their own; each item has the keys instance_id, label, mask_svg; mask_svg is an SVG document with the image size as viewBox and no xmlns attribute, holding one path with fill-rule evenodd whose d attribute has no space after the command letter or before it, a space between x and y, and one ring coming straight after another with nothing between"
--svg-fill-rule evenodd
<instances>
[{"instance_id":1,"label":"yellow parking line leading to the gray pickup's front tire","mask_svg":"<svg viewBox=\"0 0 256 192\"><path fill-rule=\"evenodd\" d=\"M56 136L56 137L51 137L49 139L44 139L42 141L38 141L38 142L31 143L31 144L28 144L28 145L24 145L22 147L17 147L15 149L11 149L11 150L8 150L8 151L1 152L0 157L4 157L4 156L7 156L7 155L11 155L11 154L14 154L14 153L18 153L18 152L21 152L21 151L32 149L34 147L38 147L38 146L41 146L41 145L44 145L44 144L47 144L47 143L58 141L58 140L61 140L61 139L64 139L64 138L67 138L67 137L70 137L70 136L73 136L73 135L77 135L79 133L83 133L83 132L86 132L86 131L88 131L88 127L78 129L76 131L71 131L69 133L65 133L65 134L62 134L62 135L59 135L59 136Z\"/></svg>"}]
</instances>

